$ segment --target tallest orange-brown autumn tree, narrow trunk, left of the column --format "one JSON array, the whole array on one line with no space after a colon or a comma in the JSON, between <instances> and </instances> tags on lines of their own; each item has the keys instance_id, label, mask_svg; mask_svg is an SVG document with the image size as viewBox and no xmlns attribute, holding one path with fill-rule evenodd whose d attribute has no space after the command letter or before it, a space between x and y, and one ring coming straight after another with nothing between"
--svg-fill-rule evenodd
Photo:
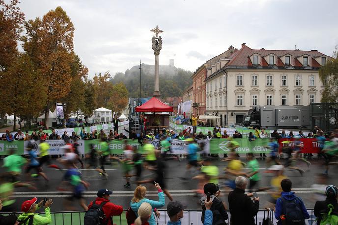
<instances>
[{"instance_id":1,"label":"tallest orange-brown autumn tree, narrow trunk, left of the column","mask_svg":"<svg viewBox=\"0 0 338 225\"><path fill-rule=\"evenodd\" d=\"M43 74L47 87L45 124L49 108L69 94L72 76L74 26L66 12L57 7L43 16L25 24L24 50L32 56L34 65Z\"/></svg>"}]
</instances>

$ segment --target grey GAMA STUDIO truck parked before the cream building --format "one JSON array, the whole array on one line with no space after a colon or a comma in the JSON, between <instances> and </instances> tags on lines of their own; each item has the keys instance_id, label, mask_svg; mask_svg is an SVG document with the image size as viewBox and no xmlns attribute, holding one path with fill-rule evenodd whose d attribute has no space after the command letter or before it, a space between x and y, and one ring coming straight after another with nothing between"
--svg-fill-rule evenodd
<instances>
[{"instance_id":1,"label":"grey GAMA STUDIO truck parked before the cream building","mask_svg":"<svg viewBox=\"0 0 338 225\"><path fill-rule=\"evenodd\" d=\"M262 106L255 107L244 116L244 126L266 129L310 128L309 106Z\"/></svg>"}]
</instances>

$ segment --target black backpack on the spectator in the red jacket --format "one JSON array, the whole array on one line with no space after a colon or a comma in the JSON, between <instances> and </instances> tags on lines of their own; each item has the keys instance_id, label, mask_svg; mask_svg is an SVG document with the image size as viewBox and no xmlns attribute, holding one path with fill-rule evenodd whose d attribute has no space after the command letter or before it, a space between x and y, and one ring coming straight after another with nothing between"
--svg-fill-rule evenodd
<instances>
[{"instance_id":1,"label":"black backpack on the spectator in the red jacket","mask_svg":"<svg viewBox=\"0 0 338 225\"><path fill-rule=\"evenodd\" d=\"M88 209L84 214L84 225L105 225L104 222L106 215L102 207L107 202L101 202L101 204L96 204L96 201L93 202L93 205Z\"/></svg>"}]
</instances>

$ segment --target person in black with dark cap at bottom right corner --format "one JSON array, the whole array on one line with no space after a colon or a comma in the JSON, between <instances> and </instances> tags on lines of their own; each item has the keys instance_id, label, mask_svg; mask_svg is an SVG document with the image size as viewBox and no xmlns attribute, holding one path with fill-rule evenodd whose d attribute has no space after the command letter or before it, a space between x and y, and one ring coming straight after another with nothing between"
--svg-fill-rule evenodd
<instances>
[{"instance_id":1,"label":"person in black with dark cap at bottom right corner","mask_svg":"<svg viewBox=\"0 0 338 225\"><path fill-rule=\"evenodd\" d=\"M334 208L332 213L338 215L338 204L337 204L337 187L329 185L325 189L326 199L325 201L317 201L314 205L314 215L318 218L317 225L320 225L322 218L322 213L328 213L328 205L331 204Z\"/></svg>"}]
</instances>

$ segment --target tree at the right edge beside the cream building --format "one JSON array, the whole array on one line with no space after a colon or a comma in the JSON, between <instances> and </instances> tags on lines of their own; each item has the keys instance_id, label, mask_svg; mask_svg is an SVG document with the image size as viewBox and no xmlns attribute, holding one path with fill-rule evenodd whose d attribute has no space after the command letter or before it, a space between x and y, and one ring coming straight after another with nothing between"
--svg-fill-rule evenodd
<instances>
[{"instance_id":1,"label":"tree at the right edge beside the cream building","mask_svg":"<svg viewBox=\"0 0 338 225\"><path fill-rule=\"evenodd\" d=\"M333 53L333 58L319 69L319 76L325 85L322 102L338 102L338 46Z\"/></svg>"}]
</instances>

